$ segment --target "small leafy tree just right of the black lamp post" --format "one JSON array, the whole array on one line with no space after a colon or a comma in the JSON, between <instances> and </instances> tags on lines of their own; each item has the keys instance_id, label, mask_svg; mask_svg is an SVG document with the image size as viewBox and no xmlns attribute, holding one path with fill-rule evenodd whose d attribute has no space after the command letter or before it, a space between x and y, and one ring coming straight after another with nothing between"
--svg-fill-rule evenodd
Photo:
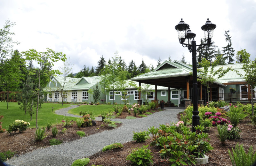
<instances>
[{"instance_id":1,"label":"small leafy tree just right of the black lamp post","mask_svg":"<svg viewBox=\"0 0 256 166\"><path fill-rule=\"evenodd\" d=\"M203 69L197 69L198 74L198 82L201 82L202 85L204 85L207 88L207 102L209 102L209 87L212 85L214 81L217 79L223 77L229 70L231 70L231 67L228 67L226 70L223 70L223 67L220 67L218 70L214 70L214 68L218 64L218 60L216 59L214 62L212 62L212 66L210 68L210 61L206 60L205 58L202 59L202 62L199 63L203 67Z\"/></svg>"}]
</instances>

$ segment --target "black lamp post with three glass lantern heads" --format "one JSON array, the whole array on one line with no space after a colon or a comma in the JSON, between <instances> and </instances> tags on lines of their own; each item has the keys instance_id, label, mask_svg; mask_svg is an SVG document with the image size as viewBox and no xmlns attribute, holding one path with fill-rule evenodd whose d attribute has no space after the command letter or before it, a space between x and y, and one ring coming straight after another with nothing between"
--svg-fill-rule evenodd
<instances>
[{"instance_id":1,"label":"black lamp post with three glass lantern heads","mask_svg":"<svg viewBox=\"0 0 256 166\"><path fill-rule=\"evenodd\" d=\"M216 28L215 24L212 24L209 19L207 19L206 23L201 27L204 31L204 38L207 39L207 43L196 45L196 41L194 38L196 34L194 34L190 29L189 25L186 24L182 19L178 25L175 26L175 29L178 32L180 44L183 47L188 47L189 52L192 52L192 69L193 69L193 115L192 115L192 132L195 132L195 126L200 125L199 122L199 111L197 106L197 71L196 71L196 51L202 47L209 47L212 42L213 30ZM196 49L196 47L198 47Z\"/></svg>"}]
</instances>

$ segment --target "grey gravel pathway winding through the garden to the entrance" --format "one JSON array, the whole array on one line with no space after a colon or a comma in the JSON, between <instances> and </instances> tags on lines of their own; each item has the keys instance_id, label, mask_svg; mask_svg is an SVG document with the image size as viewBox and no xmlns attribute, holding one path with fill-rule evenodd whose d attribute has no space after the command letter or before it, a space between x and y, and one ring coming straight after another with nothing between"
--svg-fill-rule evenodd
<instances>
[{"instance_id":1,"label":"grey gravel pathway winding through the garden to the entrance","mask_svg":"<svg viewBox=\"0 0 256 166\"><path fill-rule=\"evenodd\" d=\"M71 106L65 109L55 111L60 115L70 116L68 109L75 108ZM140 132L147 130L150 126L159 127L159 124L176 122L176 115L183 111L184 107L169 108L164 111L156 112L148 117L137 119L115 119L121 121L122 126L117 129L103 131L80 140L66 142L60 145L39 148L19 157L12 157L7 164L11 166L69 166L76 159L88 157L102 150L106 145L113 143L125 143L132 140L133 131ZM74 117L74 115L72 115ZM80 116L78 116L80 117Z\"/></svg>"}]
</instances>

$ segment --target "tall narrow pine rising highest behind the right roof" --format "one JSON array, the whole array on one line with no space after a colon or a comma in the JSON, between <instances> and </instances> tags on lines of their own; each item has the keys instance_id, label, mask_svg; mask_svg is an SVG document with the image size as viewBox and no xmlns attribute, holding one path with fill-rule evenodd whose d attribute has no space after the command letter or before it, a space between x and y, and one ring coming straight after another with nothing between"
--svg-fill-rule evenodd
<instances>
[{"instance_id":1,"label":"tall narrow pine rising highest behind the right roof","mask_svg":"<svg viewBox=\"0 0 256 166\"><path fill-rule=\"evenodd\" d=\"M228 45L226 47L222 47L223 50L223 55L224 57L228 60L228 64L234 62L234 59L232 57L234 57L235 55L235 50L234 48L232 47L232 42L231 42L231 36L228 34L229 33L229 30L228 31L225 31L225 34L224 36L226 37L226 41L228 42Z\"/></svg>"}]
</instances>

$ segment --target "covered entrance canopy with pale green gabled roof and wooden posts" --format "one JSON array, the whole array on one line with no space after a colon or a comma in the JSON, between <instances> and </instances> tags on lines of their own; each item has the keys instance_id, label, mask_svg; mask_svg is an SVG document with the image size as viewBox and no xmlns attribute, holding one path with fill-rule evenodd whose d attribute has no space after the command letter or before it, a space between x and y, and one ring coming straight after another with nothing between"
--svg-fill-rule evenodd
<instances>
[{"instance_id":1,"label":"covered entrance canopy with pale green gabled roof and wooden posts","mask_svg":"<svg viewBox=\"0 0 256 166\"><path fill-rule=\"evenodd\" d=\"M189 99L189 94L192 94L189 93L189 89L193 87L191 73L192 66L183 64L177 60L173 62L165 61L153 71L134 77L131 80L138 81L139 86L141 83L155 85L155 91L157 90L157 86L168 87L168 101L170 101L170 88L187 90L187 99ZM197 85L198 89L200 89L199 100L202 100L202 85L200 82L198 82ZM225 85L219 81L215 81L212 86L225 87ZM157 96L155 96L155 98L157 99Z\"/></svg>"}]
</instances>

